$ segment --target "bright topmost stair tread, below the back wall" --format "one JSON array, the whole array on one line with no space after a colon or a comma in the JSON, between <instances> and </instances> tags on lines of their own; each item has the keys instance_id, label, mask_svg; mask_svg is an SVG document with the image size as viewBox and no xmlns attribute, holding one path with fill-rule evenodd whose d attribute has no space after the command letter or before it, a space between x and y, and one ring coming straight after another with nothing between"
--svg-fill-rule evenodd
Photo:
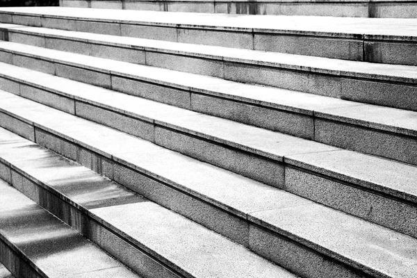
<instances>
[{"instance_id":1,"label":"bright topmost stair tread, below the back wall","mask_svg":"<svg viewBox=\"0 0 417 278\"><path fill-rule=\"evenodd\" d=\"M31 7L1 8L24 15L99 19L106 22L158 24L160 26L199 26L219 30L268 33L305 33L340 36L343 38L379 38L383 40L416 40L417 22L414 19L384 19L356 17L226 15L204 13L170 13L148 10L107 10L95 8ZM158 20L156 20L156 18ZM279 26L279 27L273 27Z\"/></svg>"}]
</instances>

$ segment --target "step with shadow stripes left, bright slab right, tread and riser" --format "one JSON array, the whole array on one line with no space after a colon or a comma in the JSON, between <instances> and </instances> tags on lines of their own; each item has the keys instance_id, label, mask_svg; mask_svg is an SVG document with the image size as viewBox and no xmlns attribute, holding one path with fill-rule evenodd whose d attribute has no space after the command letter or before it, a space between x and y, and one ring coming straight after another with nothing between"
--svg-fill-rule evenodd
<instances>
[{"instance_id":1,"label":"step with shadow stripes left, bright slab right, tread and riser","mask_svg":"<svg viewBox=\"0 0 417 278\"><path fill-rule=\"evenodd\" d=\"M0 146L3 179L142 277L295 278L247 248L4 129Z\"/></svg>"}]
</instances>

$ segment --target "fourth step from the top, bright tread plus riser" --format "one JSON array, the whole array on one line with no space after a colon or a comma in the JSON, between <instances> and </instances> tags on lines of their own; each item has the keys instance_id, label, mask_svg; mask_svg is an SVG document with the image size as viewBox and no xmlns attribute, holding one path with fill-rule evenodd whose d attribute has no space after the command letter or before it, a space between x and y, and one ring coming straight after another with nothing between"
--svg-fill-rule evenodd
<instances>
[{"instance_id":1,"label":"fourth step from the top, bright tread plus riser","mask_svg":"<svg viewBox=\"0 0 417 278\"><path fill-rule=\"evenodd\" d=\"M310 152L311 149L317 151L325 148L325 145L313 144L311 141L299 140L291 136L251 128L250 126L224 121L215 117L206 117L202 114L186 111L181 108L124 95L76 81L69 81L58 76L50 76L13 65L0 65L2 68L0 70L0 76L7 76L13 80L8 81L8 79L5 79L8 83L2 81L3 86L6 87L5 85L7 85L8 88L6 90L13 92L15 95L47 104L60 111L65 111L87 120L93 120L106 126L111 126L199 160L224 167L272 186L284 188L297 195L313 199L316 202L416 236L412 226L409 226L411 223L405 226L404 224L400 224L408 221L407 216L402 215L402 211L393 213L391 206L387 206L388 203L392 203L392 200L384 199L386 197L399 198L401 202L409 202L399 192L402 191L400 189L401 186L395 189L397 190L396 193L389 193L388 188L392 189L391 183L393 180L399 181L397 184L401 184L402 186L409 184L408 187L412 188L414 184L413 179L417 177L415 167L404 167L404 165L394 163L393 161L386 161L381 158L363 156L354 152L341 150L338 153L329 152L326 156L319 158L319 164L317 164L318 161L314 161L313 159L302 166L300 166L300 163L303 160L292 161L292 163L288 163L289 165L283 166L283 160L285 164L286 160L290 159L291 154L298 154L300 149L304 149L305 152ZM16 83L16 81L19 83ZM190 126L188 122L193 122L193 125ZM204 129L201 126L213 126L214 128L211 129L208 127ZM254 138L256 138L256 144L254 144ZM170 142L170 140L173 141ZM279 144L275 141L279 141ZM265 148L265 146L270 146L270 148ZM207 149L207 152L202 152L202 149ZM411 148L405 148L408 151L409 149ZM216 156L215 150L220 154ZM340 156L344 152L345 155ZM329 156L330 154L339 155ZM245 166L240 165L239 162L230 161L231 158L227 158L227 156L231 156L232 158L237 157L239 161L245 161L243 163ZM252 156L256 156L256 158L252 158ZM312 157L316 158L316 155ZM336 162L336 158L338 162ZM343 161L346 158L354 161L353 164L357 166L350 166L349 168L343 165ZM324 166L324 171L318 170L315 166L320 165L326 159L332 159L333 163L327 163ZM369 193L355 189L354 191L363 198L358 201L361 204L348 204L352 199L352 192L350 192L352 188L343 185L345 181L354 183L356 186L357 184L371 181L371 183L374 183L373 185L361 185L359 187L362 190L375 188L375 181L373 179L379 174L379 169L373 169L374 165L370 165L361 170L361 167L367 165L370 161L378 165L384 165L384 169L389 170L389 174L386 174L384 179L379 181L379 186L382 186L382 189L379 189L379 195L382 194L383 197L377 197L377 199L382 198L381 200L384 201L381 202L384 203L384 206L379 204L377 207L379 207L380 211L383 211L379 213L384 216L379 215L377 218L369 215L371 210L369 207L369 199L371 197L366 197ZM256 163L259 163L259 165ZM288 166L290 167L289 169L286 168ZM302 167L306 172L313 171L314 174L293 170L291 169L293 166ZM276 167L281 170L277 172ZM336 172L333 172L335 170ZM393 175L392 172L394 170L400 171L400 173ZM411 179L404 179L403 171L405 170L409 171L408 174L411 173ZM286 178L284 178L283 174L285 171L288 174ZM328 174L327 171L333 173ZM323 181L322 177L317 177L323 173L327 177L327 181ZM340 173L344 173L347 177L339 177L338 175ZM361 181L352 181L350 174L359 175ZM340 183L331 182L330 180L334 180L334 178L341 179L342 181ZM306 188L306 179L310 179L309 189ZM330 183L332 185L330 188L332 189L328 188L325 193L317 194L315 191L318 190L316 183L319 181ZM327 186L329 185L327 184ZM341 191L344 191L350 197L347 198L346 195L341 195ZM329 195L332 195L332 198L329 198ZM375 195L369 196L375 199ZM411 200L414 200L414 197L411 197ZM392 204L396 203L394 202ZM376 206L373 205L372 207L372 209L375 209ZM414 210L413 206L410 208ZM393 221L393 219L395 220Z\"/></svg>"}]
</instances>

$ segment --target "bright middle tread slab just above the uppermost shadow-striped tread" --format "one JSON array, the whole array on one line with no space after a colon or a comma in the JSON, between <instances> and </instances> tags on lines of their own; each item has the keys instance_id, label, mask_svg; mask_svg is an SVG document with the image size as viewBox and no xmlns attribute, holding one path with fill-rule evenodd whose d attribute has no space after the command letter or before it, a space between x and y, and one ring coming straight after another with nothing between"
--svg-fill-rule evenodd
<instances>
[{"instance_id":1,"label":"bright middle tread slab just above the uppermost shadow-striped tread","mask_svg":"<svg viewBox=\"0 0 417 278\"><path fill-rule=\"evenodd\" d=\"M206 202L214 202L217 206L242 218L252 211L302 202L302 199L277 188L167 149L114 154L113 157L118 163L195 195ZM277 202L277 199L282 203Z\"/></svg>"}]
</instances>

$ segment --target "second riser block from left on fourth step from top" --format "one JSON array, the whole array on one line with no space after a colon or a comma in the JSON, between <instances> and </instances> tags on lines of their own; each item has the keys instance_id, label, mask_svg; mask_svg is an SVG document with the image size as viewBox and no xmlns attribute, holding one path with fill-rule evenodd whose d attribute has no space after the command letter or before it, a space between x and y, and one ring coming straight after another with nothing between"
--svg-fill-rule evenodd
<instances>
[{"instance_id":1,"label":"second riser block from left on fourth step from top","mask_svg":"<svg viewBox=\"0 0 417 278\"><path fill-rule=\"evenodd\" d=\"M74 99L62 97L60 95L56 95L45 90L40 90L38 88L33 88L28 85L20 86L20 95L27 99L32 99L33 101L40 102L41 104L51 106L60 111L65 111L66 113L73 115L75 114Z\"/></svg>"}]
</instances>

